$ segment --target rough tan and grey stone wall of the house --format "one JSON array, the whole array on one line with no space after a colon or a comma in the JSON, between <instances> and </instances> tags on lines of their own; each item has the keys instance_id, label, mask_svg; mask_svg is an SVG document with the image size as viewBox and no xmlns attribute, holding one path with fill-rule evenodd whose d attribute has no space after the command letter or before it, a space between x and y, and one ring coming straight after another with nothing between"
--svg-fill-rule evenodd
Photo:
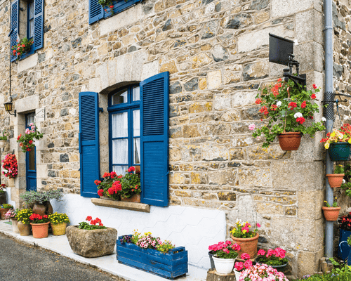
<instances>
[{"instance_id":1,"label":"rough tan and grey stone wall of the house","mask_svg":"<svg viewBox=\"0 0 351 281\"><path fill-rule=\"evenodd\" d=\"M350 93L351 5L336 4L335 83ZM0 1L0 103L8 100L8 8ZM12 64L18 117L0 112L2 129L11 131L1 157L15 150L19 161L11 199L19 204L25 191L25 155L15 137L24 132L26 112L38 113L44 133L37 143L37 189L79 195L79 92L100 93L103 173L107 93L168 71L171 205L223 211L227 238L237 218L257 221L260 247L286 249L294 277L313 273L324 255L322 134L304 136L299 150L284 152L277 143L261 148L263 140L248 126L261 123L258 89L284 68L268 61L269 33L296 41L307 87L321 86L317 99L323 99L322 8L319 0L145 0L88 25L88 0L46 0L44 48ZM348 102L342 114L350 117ZM321 117L322 110L314 118Z\"/></svg>"}]
</instances>

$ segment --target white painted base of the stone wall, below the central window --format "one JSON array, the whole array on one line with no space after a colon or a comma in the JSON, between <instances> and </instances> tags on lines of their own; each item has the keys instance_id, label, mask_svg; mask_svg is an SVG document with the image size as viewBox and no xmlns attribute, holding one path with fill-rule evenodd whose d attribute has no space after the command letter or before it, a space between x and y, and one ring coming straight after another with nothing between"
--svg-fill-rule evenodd
<instances>
[{"instance_id":1,"label":"white painted base of the stone wall, below the central window","mask_svg":"<svg viewBox=\"0 0 351 281\"><path fill-rule=\"evenodd\" d=\"M225 212L192 207L151 207L150 213L95 206L90 198L65 195L62 202L51 200L53 211L66 213L71 225L85 221L86 216L100 218L105 226L116 228L118 235L132 234L133 230L161 240L171 240L176 247L184 246L189 263L199 268L210 268L208 246L225 240Z\"/></svg>"}]
</instances>

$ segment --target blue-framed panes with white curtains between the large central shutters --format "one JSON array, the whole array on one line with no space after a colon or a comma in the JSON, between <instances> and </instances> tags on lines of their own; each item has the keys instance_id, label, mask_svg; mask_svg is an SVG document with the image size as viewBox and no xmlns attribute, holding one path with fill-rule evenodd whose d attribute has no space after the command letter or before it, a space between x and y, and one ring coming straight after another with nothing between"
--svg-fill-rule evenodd
<instances>
[{"instance_id":1,"label":"blue-framed panes with white curtains between the large central shutters","mask_svg":"<svg viewBox=\"0 0 351 281\"><path fill-rule=\"evenodd\" d=\"M140 172L140 88L128 86L110 94L110 171Z\"/></svg>"}]
</instances>

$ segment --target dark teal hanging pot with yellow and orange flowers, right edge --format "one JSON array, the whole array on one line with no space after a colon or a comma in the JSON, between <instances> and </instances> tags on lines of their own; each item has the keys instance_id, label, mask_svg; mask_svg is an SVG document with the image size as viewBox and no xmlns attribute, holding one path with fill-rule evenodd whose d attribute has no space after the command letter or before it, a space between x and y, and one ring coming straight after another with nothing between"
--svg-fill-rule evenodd
<instances>
[{"instance_id":1,"label":"dark teal hanging pot with yellow and orange flowers, right edge","mask_svg":"<svg viewBox=\"0 0 351 281\"><path fill-rule=\"evenodd\" d=\"M325 143L324 148L328 150L331 161L347 161L350 155L351 125L343 124L340 129L333 129L326 134L326 138L322 138L321 143Z\"/></svg>"}]
</instances>

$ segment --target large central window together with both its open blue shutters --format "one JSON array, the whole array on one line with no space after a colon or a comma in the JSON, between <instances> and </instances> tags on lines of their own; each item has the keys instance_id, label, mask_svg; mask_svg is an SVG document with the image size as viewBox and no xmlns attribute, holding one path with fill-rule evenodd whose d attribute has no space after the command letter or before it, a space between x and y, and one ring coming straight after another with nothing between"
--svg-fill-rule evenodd
<instances>
[{"instance_id":1,"label":"large central window together with both its open blue shutters","mask_svg":"<svg viewBox=\"0 0 351 281\"><path fill-rule=\"evenodd\" d=\"M101 179L99 93L79 93L81 196L98 197ZM140 170L141 202L168 206L169 72L110 94L110 171ZM105 171L102 171L105 172Z\"/></svg>"}]
</instances>

